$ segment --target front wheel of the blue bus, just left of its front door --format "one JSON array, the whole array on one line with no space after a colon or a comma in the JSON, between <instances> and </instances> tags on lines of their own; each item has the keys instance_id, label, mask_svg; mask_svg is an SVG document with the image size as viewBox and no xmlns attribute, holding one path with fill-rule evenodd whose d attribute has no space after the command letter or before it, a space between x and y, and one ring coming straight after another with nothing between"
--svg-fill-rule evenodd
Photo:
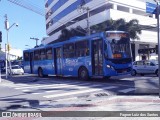
<instances>
[{"instance_id":1,"label":"front wheel of the blue bus, just left of its front door","mask_svg":"<svg viewBox=\"0 0 160 120\"><path fill-rule=\"evenodd\" d=\"M85 67L80 68L78 77L81 80L88 80L89 79L88 70Z\"/></svg>"}]
</instances>

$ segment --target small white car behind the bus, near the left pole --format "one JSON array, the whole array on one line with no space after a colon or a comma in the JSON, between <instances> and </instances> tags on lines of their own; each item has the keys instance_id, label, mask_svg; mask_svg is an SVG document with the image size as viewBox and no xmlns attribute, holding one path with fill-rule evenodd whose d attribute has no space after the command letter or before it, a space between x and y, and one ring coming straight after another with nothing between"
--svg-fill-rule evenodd
<instances>
[{"instance_id":1,"label":"small white car behind the bus, near the left pole","mask_svg":"<svg viewBox=\"0 0 160 120\"><path fill-rule=\"evenodd\" d=\"M14 65L14 66L11 66L11 70L8 68L8 74L12 74L12 75L20 74L20 75L23 75L24 74L24 70L19 65Z\"/></svg>"}]
</instances>

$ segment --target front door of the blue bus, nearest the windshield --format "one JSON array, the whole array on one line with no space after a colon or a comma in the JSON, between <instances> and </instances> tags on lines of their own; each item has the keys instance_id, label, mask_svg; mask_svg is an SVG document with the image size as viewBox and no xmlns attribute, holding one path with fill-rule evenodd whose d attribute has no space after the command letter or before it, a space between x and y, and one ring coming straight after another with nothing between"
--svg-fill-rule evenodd
<instances>
[{"instance_id":1,"label":"front door of the blue bus, nearest the windshield","mask_svg":"<svg viewBox=\"0 0 160 120\"><path fill-rule=\"evenodd\" d=\"M103 75L102 39L92 41L92 73Z\"/></svg>"}]
</instances>

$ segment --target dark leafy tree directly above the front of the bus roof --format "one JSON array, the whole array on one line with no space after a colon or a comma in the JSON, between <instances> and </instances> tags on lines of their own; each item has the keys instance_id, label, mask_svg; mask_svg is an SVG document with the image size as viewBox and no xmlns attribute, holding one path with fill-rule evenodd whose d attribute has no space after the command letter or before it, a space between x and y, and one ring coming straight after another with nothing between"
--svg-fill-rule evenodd
<instances>
[{"instance_id":1,"label":"dark leafy tree directly above the front of the bus roof","mask_svg":"<svg viewBox=\"0 0 160 120\"><path fill-rule=\"evenodd\" d=\"M138 34L141 34L141 28L138 20L133 19L126 22L124 19L118 20L107 20L103 23L94 25L91 27L92 31L109 31L109 30L120 30L129 33L131 39L139 39Z\"/></svg>"}]
</instances>

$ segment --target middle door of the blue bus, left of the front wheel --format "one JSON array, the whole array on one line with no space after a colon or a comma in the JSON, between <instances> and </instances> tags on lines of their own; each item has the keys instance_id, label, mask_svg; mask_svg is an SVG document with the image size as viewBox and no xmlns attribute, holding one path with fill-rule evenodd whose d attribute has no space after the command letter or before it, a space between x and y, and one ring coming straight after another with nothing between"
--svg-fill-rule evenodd
<instances>
[{"instance_id":1,"label":"middle door of the blue bus, left of the front wheel","mask_svg":"<svg viewBox=\"0 0 160 120\"><path fill-rule=\"evenodd\" d=\"M62 75L62 48L55 48L55 74Z\"/></svg>"}]
</instances>

